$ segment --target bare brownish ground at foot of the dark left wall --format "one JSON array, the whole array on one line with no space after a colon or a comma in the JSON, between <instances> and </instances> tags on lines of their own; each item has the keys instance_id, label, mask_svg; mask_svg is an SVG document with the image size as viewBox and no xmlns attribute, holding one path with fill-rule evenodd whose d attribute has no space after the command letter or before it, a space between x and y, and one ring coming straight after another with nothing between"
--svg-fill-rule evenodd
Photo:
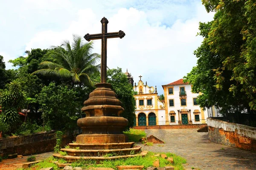
<instances>
[{"instance_id":1,"label":"bare brownish ground at foot of the dark left wall","mask_svg":"<svg viewBox=\"0 0 256 170\"><path fill-rule=\"evenodd\" d=\"M52 156L54 152L46 152L33 155L36 158L36 161L44 160ZM23 158L15 159L4 159L0 162L0 170L16 170L17 168L22 168L22 164L27 163L27 158L29 156L23 156Z\"/></svg>"}]
</instances>

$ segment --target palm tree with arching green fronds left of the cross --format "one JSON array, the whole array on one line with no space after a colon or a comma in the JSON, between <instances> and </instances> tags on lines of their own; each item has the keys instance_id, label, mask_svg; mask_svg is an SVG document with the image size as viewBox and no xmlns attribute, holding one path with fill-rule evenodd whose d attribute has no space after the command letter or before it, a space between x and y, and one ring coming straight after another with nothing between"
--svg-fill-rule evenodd
<instances>
[{"instance_id":1,"label":"palm tree with arching green fronds left of the cross","mask_svg":"<svg viewBox=\"0 0 256 170\"><path fill-rule=\"evenodd\" d=\"M73 44L64 41L61 46L53 46L53 50L48 52L53 62L44 61L40 64L46 68L33 72L50 77L72 78L73 84L93 86L96 81L90 76L100 70L100 64L96 63L100 55L91 53L93 42L83 43L81 37L73 35ZM64 47L64 49L62 48Z\"/></svg>"}]
</instances>

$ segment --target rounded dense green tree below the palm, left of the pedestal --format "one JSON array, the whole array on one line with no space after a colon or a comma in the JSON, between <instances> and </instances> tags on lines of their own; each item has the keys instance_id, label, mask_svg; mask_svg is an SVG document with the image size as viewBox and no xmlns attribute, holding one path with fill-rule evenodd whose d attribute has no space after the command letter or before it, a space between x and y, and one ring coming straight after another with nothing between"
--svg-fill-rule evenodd
<instances>
[{"instance_id":1,"label":"rounded dense green tree below the palm, left of the pedestal","mask_svg":"<svg viewBox=\"0 0 256 170\"><path fill-rule=\"evenodd\" d=\"M82 102L77 92L66 85L55 85L51 82L44 86L36 99L43 111L44 125L48 124L55 130L74 130L76 121L81 118Z\"/></svg>"}]
</instances>

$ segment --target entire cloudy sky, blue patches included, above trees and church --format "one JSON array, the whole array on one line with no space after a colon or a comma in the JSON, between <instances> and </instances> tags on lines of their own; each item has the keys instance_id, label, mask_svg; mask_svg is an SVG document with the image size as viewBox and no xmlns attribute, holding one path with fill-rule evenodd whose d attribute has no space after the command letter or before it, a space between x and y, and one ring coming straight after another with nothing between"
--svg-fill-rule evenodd
<instances>
[{"instance_id":1,"label":"entire cloudy sky, blue patches included, above trees and church","mask_svg":"<svg viewBox=\"0 0 256 170\"><path fill-rule=\"evenodd\" d=\"M122 30L123 39L108 40L108 67L122 68L149 86L181 79L193 66L193 51L201 45L198 23L212 20L201 0L0 0L0 55L24 56L32 48L50 48L72 41L72 35L101 33L102 17L108 32ZM100 54L101 41L94 40Z\"/></svg>"}]
</instances>

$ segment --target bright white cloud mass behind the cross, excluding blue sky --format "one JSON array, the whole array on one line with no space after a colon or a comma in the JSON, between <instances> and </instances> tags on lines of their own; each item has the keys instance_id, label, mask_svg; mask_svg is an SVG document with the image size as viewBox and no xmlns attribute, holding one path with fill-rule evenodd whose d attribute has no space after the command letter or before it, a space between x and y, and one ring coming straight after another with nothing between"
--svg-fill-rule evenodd
<instances>
[{"instance_id":1,"label":"bright white cloud mass behind the cross, excluding blue sky","mask_svg":"<svg viewBox=\"0 0 256 170\"><path fill-rule=\"evenodd\" d=\"M213 14L207 14L200 2L193 5L196 12L191 16L187 14L188 11L182 11L183 15L180 18L178 15L170 17L169 20L174 20L170 26L164 25L164 23L170 23L164 14L168 13L168 16L171 16L170 14L174 11L168 11L166 8L161 12L159 8L144 10L147 7L146 4L143 7L140 6L140 10L119 8L116 11L116 9L105 9L104 3L99 2L88 6L81 5L79 8L68 0L63 2L60 0L40 2L26 0L26 3L39 11L44 11L50 3L50 7L44 13L61 9L76 12L72 13L73 20L68 20L61 29L49 27L43 31L35 30L35 34L31 35L33 37L24 43L26 44L24 51L31 50L31 48L43 49L50 48L51 45L61 45L63 40L71 41L72 34L83 37L87 33L100 33L100 20L105 16L109 21L108 32L122 30L126 34L121 40L108 39L108 67L118 66L123 72L128 68L135 82L139 80L138 76L142 75L142 80L148 81L148 85L157 85L159 94L163 93L160 85L182 78L196 65L197 59L192 53L202 41L201 37L195 36L198 32L198 23L212 20L213 17ZM128 3L128 1L123 3ZM99 10L95 6L98 6ZM183 10L188 9L188 6L178 5L177 7ZM160 8L163 7L160 6ZM52 13L47 13L46 16L50 14ZM58 17L58 12L53 14L55 15L52 17ZM187 20L184 19L186 15L189 15ZM47 20L47 18L41 19ZM100 44L100 40L94 41L93 52L100 53ZM10 58L7 54L4 57Z\"/></svg>"}]
</instances>

